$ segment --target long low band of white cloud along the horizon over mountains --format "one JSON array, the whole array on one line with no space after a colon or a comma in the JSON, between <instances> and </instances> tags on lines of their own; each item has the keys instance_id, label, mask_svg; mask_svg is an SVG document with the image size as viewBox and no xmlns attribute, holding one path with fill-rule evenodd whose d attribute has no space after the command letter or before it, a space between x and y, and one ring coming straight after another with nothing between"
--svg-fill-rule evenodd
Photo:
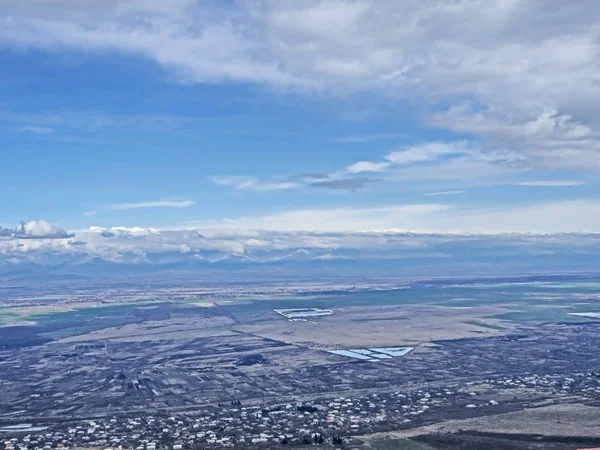
<instances>
[{"instance_id":1,"label":"long low band of white cloud along the horizon over mountains","mask_svg":"<svg viewBox=\"0 0 600 450\"><path fill-rule=\"evenodd\" d=\"M523 258L529 258L532 270L548 262L566 270L586 258L600 261L599 223L600 203L593 201L510 209L430 203L297 210L160 230L90 227L67 232L45 221L33 221L14 229L0 228L0 268L98 262L157 268L224 263L280 267L292 262L371 264L416 259L420 264L429 261L438 270L466 262L522 264Z\"/></svg>"}]
</instances>

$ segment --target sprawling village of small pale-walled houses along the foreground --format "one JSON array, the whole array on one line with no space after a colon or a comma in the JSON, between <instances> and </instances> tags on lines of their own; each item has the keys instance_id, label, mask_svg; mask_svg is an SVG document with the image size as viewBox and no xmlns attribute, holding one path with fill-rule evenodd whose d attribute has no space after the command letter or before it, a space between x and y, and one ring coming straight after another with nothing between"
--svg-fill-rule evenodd
<instances>
[{"instance_id":1,"label":"sprawling village of small pale-walled houses along the foreground","mask_svg":"<svg viewBox=\"0 0 600 450\"><path fill-rule=\"evenodd\" d=\"M422 423L420 419L448 417L459 411L462 416L480 414L482 408L501 412L503 403L510 404L511 400L496 399L506 398L504 392L515 390L597 398L600 374L500 376L404 392L371 392L255 406L234 400L231 405L206 406L186 414L120 415L47 428L19 425L0 429L0 448L183 450L332 445L339 444L339 436L417 426Z\"/></svg>"}]
</instances>

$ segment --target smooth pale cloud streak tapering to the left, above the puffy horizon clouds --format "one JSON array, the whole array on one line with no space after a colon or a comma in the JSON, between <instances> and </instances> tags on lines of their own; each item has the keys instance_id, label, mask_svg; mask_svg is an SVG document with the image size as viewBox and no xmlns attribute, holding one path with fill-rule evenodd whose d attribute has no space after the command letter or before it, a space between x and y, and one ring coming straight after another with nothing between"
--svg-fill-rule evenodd
<instances>
[{"instance_id":1,"label":"smooth pale cloud streak tapering to the left, above the puffy horizon clouds","mask_svg":"<svg viewBox=\"0 0 600 450\"><path fill-rule=\"evenodd\" d=\"M600 232L600 203L593 200L512 207L416 204L377 208L309 209L263 217L196 222L199 228L349 232L403 230L468 233Z\"/></svg>"}]
</instances>

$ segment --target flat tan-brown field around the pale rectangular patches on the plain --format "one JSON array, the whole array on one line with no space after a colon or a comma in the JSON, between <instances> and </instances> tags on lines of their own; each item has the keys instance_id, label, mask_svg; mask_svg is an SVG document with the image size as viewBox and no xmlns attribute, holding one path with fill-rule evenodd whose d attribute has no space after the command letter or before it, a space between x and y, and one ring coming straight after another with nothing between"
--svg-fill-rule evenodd
<instances>
[{"instance_id":1,"label":"flat tan-brown field around the pale rectangular patches on the plain","mask_svg":"<svg viewBox=\"0 0 600 450\"><path fill-rule=\"evenodd\" d=\"M211 302L193 306L216 308ZM44 310L47 312L48 308L44 307ZM69 310L67 305L63 305L55 311ZM291 322L272 313L252 324L236 324L232 318L219 315L215 309L211 317L145 321L69 336L57 342L186 340L231 330L313 349L420 346L420 351L426 351L437 340L506 334L514 329L515 324L489 317L507 311L491 306L353 306L336 309L331 316L314 321ZM26 317L32 311L28 308L22 313Z\"/></svg>"}]
</instances>

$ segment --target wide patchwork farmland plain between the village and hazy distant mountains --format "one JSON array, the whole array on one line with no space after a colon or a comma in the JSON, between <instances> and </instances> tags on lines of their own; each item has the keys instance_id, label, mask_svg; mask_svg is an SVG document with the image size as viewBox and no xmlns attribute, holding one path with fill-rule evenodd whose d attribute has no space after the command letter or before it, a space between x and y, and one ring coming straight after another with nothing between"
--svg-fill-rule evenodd
<instances>
[{"instance_id":1,"label":"wide patchwork farmland plain between the village and hazy distant mountains","mask_svg":"<svg viewBox=\"0 0 600 450\"><path fill-rule=\"evenodd\" d=\"M597 288L590 280L463 280L306 295L184 295L173 288L129 291L129 298L96 292L94 301L37 295L27 306L5 302L0 425L140 411L193 415L234 401L264 409L294 399L323 412L318 405L351 396L362 405L357 414L369 405L385 414L379 422L340 419L351 424L340 432L407 433L367 448L452 448L458 430L505 435L511 420L526 421L510 414L553 406L544 403L549 399L564 408L600 401ZM544 410L537 411L541 417ZM486 422L492 413L507 416ZM346 413L329 413L336 414ZM447 427L448 442L421 439L438 424ZM498 436L500 445L505 436ZM468 439L489 445L492 438Z\"/></svg>"}]
</instances>

